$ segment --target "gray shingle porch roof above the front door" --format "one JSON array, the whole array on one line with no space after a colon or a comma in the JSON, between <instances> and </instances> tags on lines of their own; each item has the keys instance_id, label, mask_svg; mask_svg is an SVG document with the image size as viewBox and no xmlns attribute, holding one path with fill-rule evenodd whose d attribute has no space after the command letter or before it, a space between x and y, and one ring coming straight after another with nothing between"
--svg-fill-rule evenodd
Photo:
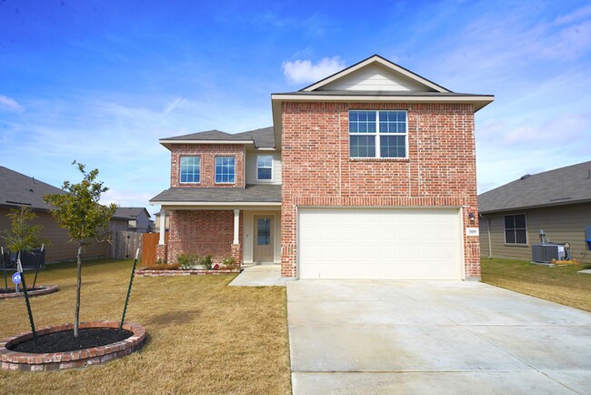
<instances>
[{"instance_id":1,"label":"gray shingle porch roof above the front door","mask_svg":"<svg viewBox=\"0 0 591 395\"><path fill-rule=\"evenodd\" d=\"M241 187L171 187L150 199L151 204L160 202L281 202L281 186L247 185L245 189Z\"/></svg>"}]
</instances>

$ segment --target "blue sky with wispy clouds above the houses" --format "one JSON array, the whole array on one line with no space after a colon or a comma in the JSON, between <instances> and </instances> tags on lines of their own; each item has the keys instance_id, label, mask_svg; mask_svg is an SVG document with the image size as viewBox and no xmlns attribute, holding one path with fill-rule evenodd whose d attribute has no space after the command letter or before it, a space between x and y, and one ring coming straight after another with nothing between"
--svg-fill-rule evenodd
<instances>
[{"instance_id":1,"label":"blue sky with wispy clouds above the houses","mask_svg":"<svg viewBox=\"0 0 591 395\"><path fill-rule=\"evenodd\" d=\"M158 138L272 124L270 95L379 54L476 113L479 192L591 160L586 1L0 0L0 165L61 187L75 159L106 201L169 186Z\"/></svg>"}]
</instances>

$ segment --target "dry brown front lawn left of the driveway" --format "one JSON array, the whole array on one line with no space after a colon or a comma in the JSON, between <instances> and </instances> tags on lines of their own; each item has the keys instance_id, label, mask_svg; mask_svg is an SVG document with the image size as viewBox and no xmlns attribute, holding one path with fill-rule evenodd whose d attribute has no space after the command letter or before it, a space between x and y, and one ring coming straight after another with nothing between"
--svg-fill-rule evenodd
<instances>
[{"instance_id":1,"label":"dry brown front lawn left of the driveway","mask_svg":"<svg viewBox=\"0 0 591 395\"><path fill-rule=\"evenodd\" d=\"M83 264L81 320L121 319L131 267ZM126 320L145 327L144 349L81 370L0 370L0 393L291 393L285 288L227 287L234 278L135 278ZM50 265L37 283L60 290L31 299L35 325L72 322L75 263ZM0 312L0 338L30 330L25 299L0 300Z\"/></svg>"}]
</instances>

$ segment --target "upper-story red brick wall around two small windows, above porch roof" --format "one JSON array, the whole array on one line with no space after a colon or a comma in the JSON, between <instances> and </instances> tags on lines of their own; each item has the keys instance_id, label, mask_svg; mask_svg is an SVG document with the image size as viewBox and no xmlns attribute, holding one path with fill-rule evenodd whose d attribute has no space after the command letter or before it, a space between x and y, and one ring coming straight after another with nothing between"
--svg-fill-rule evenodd
<instances>
[{"instance_id":1,"label":"upper-story red brick wall around two small windows, above porch roof","mask_svg":"<svg viewBox=\"0 0 591 395\"><path fill-rule=\"evenodd\" d=\"M174 144L170 147L171 187L245 187L245 147L237 144ZM179 181L181 157L201 157L201 180L198 184ZM235 183L215 183L215 157L235 157Z\"/></svg>"}]
</instances>

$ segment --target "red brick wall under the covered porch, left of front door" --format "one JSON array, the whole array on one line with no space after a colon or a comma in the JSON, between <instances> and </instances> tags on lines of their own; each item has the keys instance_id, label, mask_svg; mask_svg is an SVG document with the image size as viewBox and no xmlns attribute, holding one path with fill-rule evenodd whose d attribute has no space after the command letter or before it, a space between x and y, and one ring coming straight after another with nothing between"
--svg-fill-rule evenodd
<instances>
[{"instance_id":1,"label":"red brick wall under the covered porch, left of front door","mask_svg":"<svg viewBox=\"0 0 591 395\"><path fill-rule=\"evenodd\" d=\"M239 240L242 239L242 212ZM234 210L173 210L170 212L167 261L175 263L181 254L211 254L214 263L234 257L242 263L242 245L234 242Z\"/></svg>"}]
</instances>

